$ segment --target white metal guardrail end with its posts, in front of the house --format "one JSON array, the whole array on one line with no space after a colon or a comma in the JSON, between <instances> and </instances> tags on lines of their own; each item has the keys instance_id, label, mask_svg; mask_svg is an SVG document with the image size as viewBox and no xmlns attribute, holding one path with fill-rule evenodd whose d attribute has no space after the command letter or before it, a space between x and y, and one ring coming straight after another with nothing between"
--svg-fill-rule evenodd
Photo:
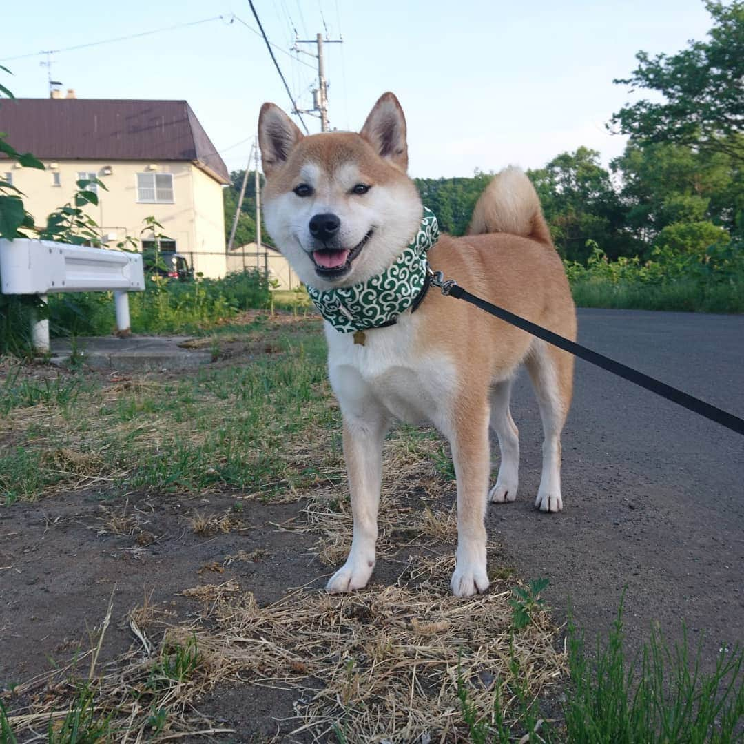
<instances>
[{"instance_id":1,"label":"white metal guardrail end with its posts, in front of the house","mask_svg":"<svg viewBox=\"0 0 744 744\"><path fill-rule=\"evenodd\" d=\"M0 240L0 292L39 295L49 292L114 292L116 325L129 330L127 292L144 289L142 256L106 248L71 246L50 240ZM49 348L49 323L33 327L33 345Z\"/></svg>"}]
</instances>

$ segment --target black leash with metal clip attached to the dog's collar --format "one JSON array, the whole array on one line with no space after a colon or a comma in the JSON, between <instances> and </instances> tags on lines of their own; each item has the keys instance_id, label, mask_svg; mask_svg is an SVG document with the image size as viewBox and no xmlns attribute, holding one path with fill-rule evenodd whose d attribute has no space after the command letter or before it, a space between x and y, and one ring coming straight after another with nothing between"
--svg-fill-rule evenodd
<instances>
[{"instance_id":1,"label":"black leash with metal clip attached to the dog's collar","mask_svg":"<svg viewBox=\"0 0 744 744\"><path fill-rule=\"evenodd\" d=\"M585 359L586 362L591 362L591 364L597 365L597 367L601 367L603 370L623 377L623 379L626 379L629 382L635 382L635 384L640 385L641 388L646 388L652 393L661 395L662 398L666 398L667 400L671 400L673 403L682 405L690 411L695 411L696 414L705 416L705 418L715 421L716 423L721 424L721 426L725 426L727 429L731 429L732 432L744 434L744 419L734 416L734 414L730 414L722 408L716 408L715 405L705 403L704 400L688 395L677 388L673 388L671 385L667 385L665 382L661 382L643 372L638 372L632 367L620 364L620 362L615 362L615 359L610 359L609 356L604 356L596 351L592 351L586 346L565 339L563 336L559 336L557 333L553 333L553 331L548 330L547 328L530 323L530 321L525 320L525 318L520 318L519 315L514 315L513 312L504 310L503 307L498 307L497 305L493 305L475 295L471 295L470 292L467 292L461 286L458 286L455 280L445 280L442 272L433 272L433 274L430 275L430 281L433 286L440 287L443 295L450 295L451 297L456 297L460 300L469 302L470 304L475 305L475 307L480 307L481 310L490 312L491 315L496 315L496 317L501 318L502 321L506 321L517 328L526 330L527 333L537 336L538 339L548 341L548 344L553 344L559 349L568 351L568 353L574 354L574 356L578 356L580 359Z\"/></svg>"}]
</instances>

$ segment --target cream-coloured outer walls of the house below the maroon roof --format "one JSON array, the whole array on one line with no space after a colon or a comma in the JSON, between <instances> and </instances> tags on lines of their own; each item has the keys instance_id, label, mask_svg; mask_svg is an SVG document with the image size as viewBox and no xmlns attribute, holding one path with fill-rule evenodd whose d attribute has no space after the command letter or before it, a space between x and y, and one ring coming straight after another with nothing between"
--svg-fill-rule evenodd
<instances>
[{"instance_id":1,"label":"cream-coloured outer walls of the house below the maroon roof","mask_svg":"<svg viewBox=\"0 0 744 744\"><path fill-rule=\"evenodd\" d=\"M126 235L136 240L142 235L145 217L155 217L163 225L163 232L176 241L176 250L193 260L196 271L205 276L225 274L225 258L200 257L205 250L224 251L224 211L222 186L190 162L160 162L155 173L173 173L173 204L137 201L137 173L147 173L153 161L43 161L47 170L13 168L0 161L0 172L12 173L13 185L25 194L28 212L37 226L45 225L47 215L71 202L77 189L77 173L96 173L107 190L98 190L98 205L86 211L100 225L104 245L115 247ZM51 168L53 162L57 167ZM103 167L111 166L110 176L103 175ZM53 173L60 173L59 187L53 185ZM115 234L106 240L109 234ZM214 246L214 247L212 247Z\"/></svg>"}]
</instances>

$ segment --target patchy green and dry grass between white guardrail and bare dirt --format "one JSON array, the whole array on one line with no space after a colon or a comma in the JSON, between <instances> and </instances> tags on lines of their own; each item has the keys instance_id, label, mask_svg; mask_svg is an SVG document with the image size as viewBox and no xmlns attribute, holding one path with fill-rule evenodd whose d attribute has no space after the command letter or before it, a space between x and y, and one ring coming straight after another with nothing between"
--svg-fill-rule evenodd
<instances>
[{"instance_id":1,"label":"patchy green and dry grass between white guardrail and bare dirt","mask_svg":"<svg viewBox=\"0 0 744 744\"><path fill-rule=\"evenodd\" d=\"M1 500L77 486L114 493L229 487L269 498L315 482L319 467L337 469L340 416L318 324L267 319L236 338L248 348L240 363L175 380L111 383L84 371L48 378L38 368L10 368L0 376L0 436L11 443L0 460Z\"/></svg>"}]
</instances>

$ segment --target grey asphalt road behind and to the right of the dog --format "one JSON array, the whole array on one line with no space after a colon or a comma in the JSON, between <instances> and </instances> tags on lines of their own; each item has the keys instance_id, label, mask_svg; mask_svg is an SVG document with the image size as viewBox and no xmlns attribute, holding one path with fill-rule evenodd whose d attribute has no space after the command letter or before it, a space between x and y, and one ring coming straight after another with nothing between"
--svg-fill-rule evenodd
<instances>
[{"instance_id":1,"label":"grey asphalt road behind and to the right of the dog","mask_svg":"<svg viewBox=\"0 0 744 744\"><path fill-rule=\"evenodd\" d=\"M744 316L579 310L579 341L744 417ZM533 510L542 431L525 373L512 413L522 466L514 504L489 507L491 536L587 637L604 634L627 586L637 648L658 621L702 638L707 664L744 641L744 437L577 361L563 436L563 511Z\"/></svg>"}]
</instances>

